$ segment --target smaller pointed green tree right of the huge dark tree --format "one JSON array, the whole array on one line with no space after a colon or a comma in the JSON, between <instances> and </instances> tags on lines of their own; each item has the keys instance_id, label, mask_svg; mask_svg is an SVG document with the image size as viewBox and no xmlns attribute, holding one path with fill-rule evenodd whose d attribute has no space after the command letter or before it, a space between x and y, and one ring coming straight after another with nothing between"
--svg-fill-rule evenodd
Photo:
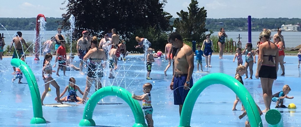
<instances>
[{"instance_id":1,"label":"smaller pointed green tree right of the huge dark tree","mask_svg":"<svg viewBox=\"0 0 301 127\"><path fill-rule=\"evenodd\" d=\"M180 33L187 41L196 40L197 42L202 41L205 38L205 22L207 12L204 7L198 7L197 0L191 0L189 4L188 12L181 10L177 12L179 18L176 18L173 26L176 32Z\"/></svg>"}]
</instances>

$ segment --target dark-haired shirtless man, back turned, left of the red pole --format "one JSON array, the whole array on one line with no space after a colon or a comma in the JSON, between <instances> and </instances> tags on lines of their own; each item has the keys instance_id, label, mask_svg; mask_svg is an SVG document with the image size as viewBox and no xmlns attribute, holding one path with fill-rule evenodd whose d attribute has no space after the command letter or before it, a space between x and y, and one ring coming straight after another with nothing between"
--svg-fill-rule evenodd
<instances>
[{"instance_id":1,"label":"dark-haired shirtless man, back turned, left of the red pole","mask_svg":"<svg viewBox=\"0 0 301 127\"><path fill-rule=\"evenodd\" d=\"M26 48L28 48L29 46L26 44L25 40L22 38L22 33L20 31L17 32L16 37L13 38L13 41L11 42L11 47L9 48L9 51L11 51L11 48L13 47L13 45L15 44L15 51L13 54L13 59L14 58L18 58L21 59L21 57L25 54L23 52L23 47L22 45L25 45ZM16 67L13 67L14 69L14 73L16 73Z\"/></svg>"}]
</instances>

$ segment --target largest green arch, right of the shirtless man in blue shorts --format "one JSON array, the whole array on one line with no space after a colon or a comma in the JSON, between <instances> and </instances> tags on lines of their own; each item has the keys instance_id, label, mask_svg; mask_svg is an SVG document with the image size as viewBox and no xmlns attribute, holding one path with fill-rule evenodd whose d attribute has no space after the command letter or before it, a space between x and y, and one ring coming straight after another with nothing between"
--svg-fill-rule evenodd
<instances>
[{"instance_id":1,"label":"largest green arch, right of the shirtless man in blue shorts","mask_svg":"<svg viewBox=\"0 0 301 127\"><path fill-rule=\"evenodd\" d=\"M198 96L209 85L223 84L238 96L247 111L251 127L262 127L257 106L247 89L239 81L223 73L212 73L198 80L188 92L184 101L179 127L190 127L191 114Z\"/></svg>"}]
</instances>

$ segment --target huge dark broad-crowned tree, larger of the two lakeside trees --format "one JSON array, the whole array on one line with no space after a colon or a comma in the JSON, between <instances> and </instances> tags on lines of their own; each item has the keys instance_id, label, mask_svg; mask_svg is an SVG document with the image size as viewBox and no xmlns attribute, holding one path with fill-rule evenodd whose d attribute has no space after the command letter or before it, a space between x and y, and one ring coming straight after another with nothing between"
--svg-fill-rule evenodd
<instances>
[{"instance_id":1,"label":"huge dark broad-crowned tree, larger of the two lakeside trees","mask_svg":"<svg viewBox=\"0 0 301 127\"><path fill-rule=\"evenodd\" d=\"M103 36L116 28L123 38L130 38L137 29L167 30L170 17L163 11L163 5L159 0L68 0L62 25L68 29L68 19L73 14L77 35L89 29L93 35Z\"/></svg>"}]
</instances>

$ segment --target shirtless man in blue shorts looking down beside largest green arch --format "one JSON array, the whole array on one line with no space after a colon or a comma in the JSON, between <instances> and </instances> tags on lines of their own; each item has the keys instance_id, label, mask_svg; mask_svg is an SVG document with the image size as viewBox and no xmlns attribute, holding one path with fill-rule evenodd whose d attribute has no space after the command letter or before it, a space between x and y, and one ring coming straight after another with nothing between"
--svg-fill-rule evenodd
<instances>
[{"instance_id":1,"label":"shirtless man in blue shorts looking down beside largest green arch","mask_svg":"<svg viewBox=\"0 0 301 127\"><path fill-rule=\"evenodd\" d=\"M183 43L179 33L172 33L169 38L171 44L175 48L178 48L174 57L175 73L170 83L170 89L174 90L174 104L179 105L179 113L181 116L185 98L193 85L192 73L194 69L194 55L190 46Z\"/></svg>"}]
</instances>

